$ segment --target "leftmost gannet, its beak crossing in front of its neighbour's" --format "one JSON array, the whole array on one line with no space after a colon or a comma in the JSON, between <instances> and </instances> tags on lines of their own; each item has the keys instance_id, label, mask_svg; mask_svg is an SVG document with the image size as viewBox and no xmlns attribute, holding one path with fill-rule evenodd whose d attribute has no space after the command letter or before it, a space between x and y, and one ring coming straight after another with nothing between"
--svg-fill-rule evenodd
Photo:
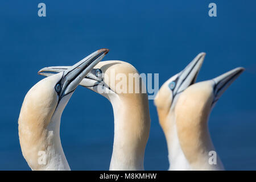
<instances>
[{"instance_id":1,"label":"leftmost gannet, its beak crossing in front of its neighbour's","mask_svg":"<svg viewBox=\"0 0 256 182\"><path fill-rule=\"evenodd\" d=\"M39 81L26 94L18 120L19 141L32 170L70 170L60 141L61 114L77 85L108 51L93 52L64 72ZM40 163L42 152L45 160Z\"/></svg>"}]
</instances>

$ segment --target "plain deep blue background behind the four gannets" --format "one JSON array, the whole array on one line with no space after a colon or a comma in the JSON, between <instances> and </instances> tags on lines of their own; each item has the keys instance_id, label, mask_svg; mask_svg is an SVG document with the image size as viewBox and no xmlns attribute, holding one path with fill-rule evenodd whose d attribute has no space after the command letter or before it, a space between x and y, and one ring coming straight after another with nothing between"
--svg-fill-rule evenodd
<instances>
[{"instance_id":1,"label":"plain deep blue background behind the four gannets","mask_svg":"<svg viewBox=\"0 0 256 182\"><path fill-rule=\"evenodd\" d=\"M39 69L72 65L99 48L162 85L200 52L197 81L236 67L246 71L213 109L210 134L226 169L256 169L256 1L1 1L0 169L30 169L22 156L18 117ZM208 16L210 2L217 17ZM167 146L153 101L145 169L168 169ZM89 107L88 107L89 106ZM101 114L98 114L101 110ZM110 102L79 86L61 118L71 169L109 169L114 135Z\"/></svg>"}]
</instances>

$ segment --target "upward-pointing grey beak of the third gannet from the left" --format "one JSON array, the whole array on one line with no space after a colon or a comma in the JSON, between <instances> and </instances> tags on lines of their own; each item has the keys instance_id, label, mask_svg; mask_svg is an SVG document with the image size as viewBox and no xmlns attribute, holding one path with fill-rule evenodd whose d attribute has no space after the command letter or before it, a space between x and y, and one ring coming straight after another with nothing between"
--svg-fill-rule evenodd
<instances>
[{"instance_id":1,"label":"upward-pointing grey beak of the third gannet from the left","mask_svg":"<svg viewBox=\"0 0 256 182\"><path fill-rule=\"evenodd\" d=\"M203 64L204 57L204 52L199 53L199 55L197 55L195 59L193 59L191 63L189 63L187 67L183 69L183 71L177 74L176 80L169 84L173 97L175 97L176 94L183 92L188 88L189 85L196 82L196 78L200 71L201 65Z\"/></svg>"}]
</instances>

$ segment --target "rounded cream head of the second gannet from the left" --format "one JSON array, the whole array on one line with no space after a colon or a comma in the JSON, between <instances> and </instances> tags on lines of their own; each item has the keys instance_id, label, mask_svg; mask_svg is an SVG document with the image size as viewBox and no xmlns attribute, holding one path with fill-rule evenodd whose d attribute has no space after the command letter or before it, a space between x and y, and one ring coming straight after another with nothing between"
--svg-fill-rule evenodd
<instances>
[{"instance_id":1,"label":"rounded cream head of the second gannet from the left","mask_svg":"<svg viewBox=\"0 0 256 182\"><path fill-rule=\"evenodd\" d=\"M109 100L113 97L130 100L141 97L142 94L146 96L146 92L142 92L145 86L133 65L118 60L102 61L94 69L93 76L91 74L85 77L85 81L91 79L93 86L81 82L82 86L92 89Z\"/></svg>"}]
</instances>

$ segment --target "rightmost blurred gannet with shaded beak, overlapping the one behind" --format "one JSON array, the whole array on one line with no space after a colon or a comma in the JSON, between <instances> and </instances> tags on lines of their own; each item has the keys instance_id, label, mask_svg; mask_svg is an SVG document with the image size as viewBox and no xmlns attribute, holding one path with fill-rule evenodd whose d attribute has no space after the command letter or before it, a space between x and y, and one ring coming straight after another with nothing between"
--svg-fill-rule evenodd
<instances>
[{"instance_id":1,"label":"rightmost blurred gannet with shaded beak, overlapping the one behind","mask_svg":"<svg viewBox=\"0 0 256 182\"><path fill-rule=\"evenodd\" d=\"M225 90L244 71L236 68L212 80L198 82L180 94L175 107L175 121L180 146L193 169L224 169L209 165L209 151L214 150L208 131L208 117Z\"/></svg>"}]
</instances>

